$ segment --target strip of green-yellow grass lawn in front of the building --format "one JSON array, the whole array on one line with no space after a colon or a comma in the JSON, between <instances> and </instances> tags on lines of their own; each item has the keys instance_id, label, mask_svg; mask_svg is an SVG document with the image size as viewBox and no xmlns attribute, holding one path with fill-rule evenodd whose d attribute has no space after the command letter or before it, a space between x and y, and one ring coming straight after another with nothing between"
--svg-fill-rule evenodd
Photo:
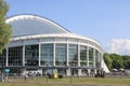
<instances>
[{"instance_id":1,"label":"strip of green-yellow grass lawn in front of the building","mask_svg":"<svg viewBox=\"0 0 130 86\"><path fill-rule=\"evenodd\" d=\"M28 81L24 78L9 78L9 82L0 82L0 86L130 86L130 78L95 78L95 77L70 77L64 78L49 78L46 77L29 77Z\"/></svg>"}]
</instances>

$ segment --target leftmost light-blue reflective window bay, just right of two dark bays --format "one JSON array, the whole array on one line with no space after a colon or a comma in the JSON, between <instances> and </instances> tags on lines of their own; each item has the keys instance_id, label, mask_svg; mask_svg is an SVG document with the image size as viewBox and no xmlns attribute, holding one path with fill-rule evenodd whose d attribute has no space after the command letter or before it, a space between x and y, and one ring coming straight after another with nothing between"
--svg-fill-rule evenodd
<instances>
[{"instance_id":1,"label":"leftmost light-blue reflective window bay, just right of two dark bays","mask_svg":"<svg viewBox=\"0 0 130 86\"><path fill-rule=\"evenodd\" d=\"M53 66L53 44L41 44L41 66Z\"/></svg>"}]
</instances>

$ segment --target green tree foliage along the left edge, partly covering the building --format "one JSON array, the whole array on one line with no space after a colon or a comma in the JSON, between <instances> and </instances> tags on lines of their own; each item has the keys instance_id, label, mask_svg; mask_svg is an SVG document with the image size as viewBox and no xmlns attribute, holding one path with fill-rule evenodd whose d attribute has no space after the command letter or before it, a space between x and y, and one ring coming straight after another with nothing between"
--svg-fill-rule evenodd
<instances>
[{"instance_id":1,"label":"green tree foliage along the left edge, partly covering the building","mask_svg":"<svg viewBox=\"0 0 130 86\"><path fill-rule=\"evenodd\" d=\"M0 0L0 54L9 43L11 37L11 26L5 23L8 11L8 4L3 0Z\"/></svg>"}]
</instances>

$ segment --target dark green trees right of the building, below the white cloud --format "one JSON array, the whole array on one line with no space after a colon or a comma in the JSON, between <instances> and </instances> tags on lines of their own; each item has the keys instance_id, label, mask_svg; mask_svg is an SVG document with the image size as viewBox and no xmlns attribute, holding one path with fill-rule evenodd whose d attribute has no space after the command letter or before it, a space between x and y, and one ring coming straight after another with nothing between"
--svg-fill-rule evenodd
<instances>
[{"instance_id":1,"label":"dark green trees right of the building, below the white cloud","mask_svg":"<svg viewBox=\"0 0 130 86\"><path fill-rule=\"evenodd\" d=\"M130 56L120 56L117 54L104 54L104 60L109 70L130 69Z\"/></svg>"}]
</instances>

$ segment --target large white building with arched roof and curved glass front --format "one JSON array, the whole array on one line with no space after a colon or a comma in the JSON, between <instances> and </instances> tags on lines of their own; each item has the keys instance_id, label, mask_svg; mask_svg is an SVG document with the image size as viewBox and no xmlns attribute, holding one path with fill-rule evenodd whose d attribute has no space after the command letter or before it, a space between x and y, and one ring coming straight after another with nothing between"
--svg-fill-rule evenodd
<instances>
[{"instance_id":1,"label":"large white building with arched roof and curved glass front","mask_svg":"<svg viewBox=\"0 0 130 86\"><path fill-rule=\"evenodd\" d=\"M102 45L93 39L74 34L36 15L16 15L6 23L12 25L13 33L0 56L2 69L64 75L87 75L96 70L108 72Z\"/></svg>"}]
</instances>

